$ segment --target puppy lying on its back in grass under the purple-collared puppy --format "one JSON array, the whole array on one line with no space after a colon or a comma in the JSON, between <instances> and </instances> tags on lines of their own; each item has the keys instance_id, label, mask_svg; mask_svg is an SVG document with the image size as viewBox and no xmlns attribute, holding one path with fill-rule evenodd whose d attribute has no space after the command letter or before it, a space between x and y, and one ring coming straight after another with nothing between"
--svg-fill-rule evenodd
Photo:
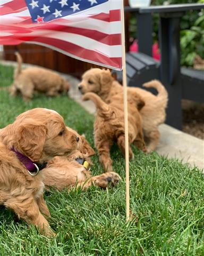
<instances>
[{"instance_id":1,"label":"puppy lying on its back in grass under the purple-collared puppy","mask_svg":"<svg viewBox=\"0 0 204 256\"><path fill-rule=\"evenodd\" d=\"M56 156L48 162L43 170L45 186L58 190L70 187L87 189L91 185L106 188L109 183L111 186L118 183L120 176L117 173L109 172L92 177L91 172L76 161L76 158L82 158L92 164L89 157L94 155L95 151L83 135L80 136L77 132L75 133L80 138L78 150L74 150L67 157Z\"/></svg>"}]
</instances>

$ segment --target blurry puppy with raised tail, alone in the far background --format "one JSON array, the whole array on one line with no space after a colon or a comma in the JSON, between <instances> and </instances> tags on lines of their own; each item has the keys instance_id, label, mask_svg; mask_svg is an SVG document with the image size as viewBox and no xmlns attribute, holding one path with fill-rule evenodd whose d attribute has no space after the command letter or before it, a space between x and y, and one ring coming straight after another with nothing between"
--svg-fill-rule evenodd
<instances>
[{"instance_id":1,"label":"blurry puppy with raised tail, alone in the far background","mask_svg":"<svg viewBox=\"0 0 204 256\"><path fill-rule=\"evenodd\" d=\"M24 101L29 101L35 92L57 96L64 91L69 91L69 83L56 72L38 67L22 70L22 58L19 53L16 53L16 59L18 66L14 71L14 82L10 86L12 96L20 93Z\"/></svg>"}]
</instances>

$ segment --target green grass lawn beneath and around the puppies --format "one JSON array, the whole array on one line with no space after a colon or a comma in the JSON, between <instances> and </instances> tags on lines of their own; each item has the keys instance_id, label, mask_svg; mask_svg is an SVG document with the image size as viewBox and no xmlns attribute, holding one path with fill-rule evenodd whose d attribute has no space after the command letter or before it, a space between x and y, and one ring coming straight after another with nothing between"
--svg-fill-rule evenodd
<instances>
[{"instance_id":1,"label":"green grass lawn beneath and around the puppies","mask_svg":"<svg viewBox=\"0 0 204 256\"><path fill-rule=\"evenodd\" d=\"M1 86L12 83L13 69L0 66ZM36 96L25 103L1 93L1 127L35 107L55 109L66 125L85 133L91 145L94 117L65 95ZM130 163L132 221L125 222L124 159L112 150L114 170L122 176L111 189L91 187L45 195L56 231L47 238L24 221L15 222L11 211L0 208L0 255L204 255L204 177L196 167L168 160L156 153L144 155L133 148ZM94 174L102 168L94 157Z\"/></svg>"}]
</instances>

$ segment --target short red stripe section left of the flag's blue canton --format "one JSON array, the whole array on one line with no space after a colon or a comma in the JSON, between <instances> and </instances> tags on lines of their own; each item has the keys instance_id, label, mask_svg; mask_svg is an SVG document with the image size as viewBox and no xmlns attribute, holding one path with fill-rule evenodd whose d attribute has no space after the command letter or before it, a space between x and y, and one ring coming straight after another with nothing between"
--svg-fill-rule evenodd
<instances>
[{"instance_id":1,"label":"short red stripe section left of the flag's blue canton","mask_svg":"<svg viewBox=\"0 0 204 256\"><path fill-rule=\"evenodd\" d=\"M21 0L21 1L13 0L11 2L1 5L0 13L1 15L5 15L5 14L14 13L14 12L21 12L26 10L27 8L28 7L25 4L24 0Z\"/></svg>"}]
</instances>

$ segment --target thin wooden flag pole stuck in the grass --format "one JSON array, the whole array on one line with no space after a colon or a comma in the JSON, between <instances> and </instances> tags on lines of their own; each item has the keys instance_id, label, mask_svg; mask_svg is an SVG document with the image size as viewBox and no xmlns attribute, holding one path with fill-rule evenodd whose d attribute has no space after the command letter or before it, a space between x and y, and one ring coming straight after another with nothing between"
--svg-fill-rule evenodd
<instances>
[{"instance_id":1,"label":"thin wooden flag pole stuck in the grass","mask_svg":"<svg viewBox=\"0 0 204 256\"><path fill-rule=\"evenodd\" d=\"M122 65L123 65L123 104L124 104L124 124L125 124L125 181L126 181L126 221L130 219L130 186L129 186L129 141L128 141L128 97L125 62L125 19L124 5L121 9L122 20Z\"/></svg>"}]
</instances>

